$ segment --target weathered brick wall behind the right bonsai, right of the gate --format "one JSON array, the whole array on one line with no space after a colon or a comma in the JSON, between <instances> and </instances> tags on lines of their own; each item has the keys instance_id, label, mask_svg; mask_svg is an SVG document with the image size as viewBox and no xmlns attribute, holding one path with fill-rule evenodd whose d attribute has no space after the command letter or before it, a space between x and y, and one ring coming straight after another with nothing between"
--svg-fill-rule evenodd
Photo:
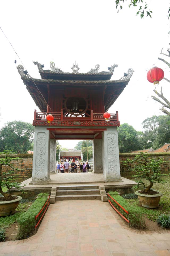
<instances>
[{"instance_id":1,"label":"weathered brick wall behind the right bonsai, right of the gate","mask_svg":"<svg viewBox=\"0 0 170 256\"><path fill-rule=\"evenodd\" d=\"M120 153L120 173L122 177L130 178L132 174L134 174L130 169L133 167L134 163L129 167L123 165L121 161L125 161L128 158L134 159L135 155L139 155L140 153ZM150 156L150 158L157 159L158 157L163 158L164 161L167 161L167 163L162 164L162 173L169 174L170 173L170 153L147 153L147 155Z\"/></svg>"}]
</instances>

